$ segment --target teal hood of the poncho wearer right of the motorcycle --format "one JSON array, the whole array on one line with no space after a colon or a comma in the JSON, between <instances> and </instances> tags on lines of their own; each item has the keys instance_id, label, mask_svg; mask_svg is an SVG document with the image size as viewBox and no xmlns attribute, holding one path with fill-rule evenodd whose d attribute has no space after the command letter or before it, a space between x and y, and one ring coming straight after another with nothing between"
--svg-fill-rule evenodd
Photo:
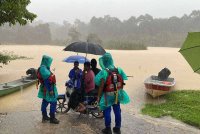
<instances>
[{"instance_id":1,"label":"teal hood of the poncho wearer right of the motorcycle","mask_svg":"<svg viewBox=\"0 0 200 134\"><path fill-rule=\"evenodd\" d=\"M102 69L114 69L113 59L110 53L105 53L102 57L99 58L99 64Z\"/></svg>"}]
</instances>

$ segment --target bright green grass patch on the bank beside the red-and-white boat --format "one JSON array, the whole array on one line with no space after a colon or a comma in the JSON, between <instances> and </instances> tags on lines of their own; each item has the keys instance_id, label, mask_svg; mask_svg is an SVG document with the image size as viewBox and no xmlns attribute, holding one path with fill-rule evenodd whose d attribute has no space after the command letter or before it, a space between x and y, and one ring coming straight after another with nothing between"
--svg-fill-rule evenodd
<instances>
[{"instance_id":1,"label":"bright green grass patch on the bank beside the red-and-white boat","mask_svg":"<svg viewBox=\"0 0 200 134\"><path fill-rule=\"evenodd\" d=\"M165 96L162 104L146 104L141 110L152 117L172 116L192 126L200 128L200 91L174 91Z\"/></svg>"}]
</instances>

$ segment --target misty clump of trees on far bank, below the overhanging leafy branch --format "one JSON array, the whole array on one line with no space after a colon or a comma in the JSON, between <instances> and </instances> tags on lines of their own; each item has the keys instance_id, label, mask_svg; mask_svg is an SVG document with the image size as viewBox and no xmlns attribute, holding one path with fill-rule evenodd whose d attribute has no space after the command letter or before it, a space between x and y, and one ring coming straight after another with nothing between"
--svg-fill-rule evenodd
<instances>
[{"instance_id":1,"label":"misty clump of trees on far bank, below the overhanging leafy branch","mask_svg":"<svg viewBox=\"0 0 200 134\"><path fill-rule=\"evenodd\" d=\"M11 44L49 44L51 43L51 32L49 24L36 26L12 26L0 27L0 42Z\"/></svg>"}]
</instances>

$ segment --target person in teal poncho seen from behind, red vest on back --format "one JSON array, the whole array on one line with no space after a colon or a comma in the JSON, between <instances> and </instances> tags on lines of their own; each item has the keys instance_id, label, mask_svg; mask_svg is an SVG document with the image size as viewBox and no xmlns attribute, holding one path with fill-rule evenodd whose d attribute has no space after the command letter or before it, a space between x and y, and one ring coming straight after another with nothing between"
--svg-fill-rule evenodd
<instances>
[{"instance_id":1,"label":"person in teal poncho seen from behind, red vest on back","mask_svg":"<svg viewBox=\"0 0 200 134\"><path fill-rule=\"evenodd\" d=\"M102 130L104 134L112 134L111 130L111 107L113 108L115 114L115 127L113 127L113 132L120 134L121 133L121 109L120 104L127 104L130 102L130 98L127 93L123 90L123 86L118 86L119 89L114 91L107 92L106 89L112 87L110 85L106 85L109 83L108 78L112 74L114 70L118 73L117 78L121 78L121 84L123 80L127 80L127 76L121 68L115 68L113 59L110 53L105 53L102 57L99 58L99 64L102 68L101 72L99 72L95 77L95 84L99 86L98 98L100 109L103 111L104 120L105 120L105 129ZM113 79L115 77L113 76ZM118 78L118 79L119 79ZM111 83L112 84L112 83ZM108 87L108 88L107 88Z\"/></svg>"}]
</instances>

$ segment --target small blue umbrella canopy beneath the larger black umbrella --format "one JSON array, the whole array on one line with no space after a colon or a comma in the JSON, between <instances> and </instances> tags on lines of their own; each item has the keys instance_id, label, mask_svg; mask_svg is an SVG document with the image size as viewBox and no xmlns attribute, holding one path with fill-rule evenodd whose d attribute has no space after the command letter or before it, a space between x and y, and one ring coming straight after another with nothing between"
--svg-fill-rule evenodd
<instances>
[{"instance_id":1,"label":"small blue umbrella canopy beneath the larger black umbrella","mask_svg":"<svg viewBox=\"0 0 200 134\"><path fill-rule=\"evenodd\" d=\"M83 64L86 61L90 62L89 59L80 55L69 56L63 60L63 62L67 62L67 63L74 63L75 61L78 61L80 64Z\"/></svg>"}]
</instances>

